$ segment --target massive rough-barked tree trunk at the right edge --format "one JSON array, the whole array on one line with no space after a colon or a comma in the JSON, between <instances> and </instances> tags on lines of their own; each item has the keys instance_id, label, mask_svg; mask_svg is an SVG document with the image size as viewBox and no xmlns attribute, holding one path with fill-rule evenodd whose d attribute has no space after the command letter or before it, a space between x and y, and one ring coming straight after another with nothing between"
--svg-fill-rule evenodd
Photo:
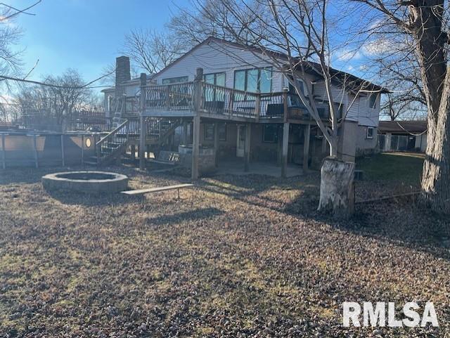
<instances>
[{"instance_id":1,"label":"massive rough-barked tree trunk at the right edge","mask_svg":"<svg viewBox=\"0 0 450 338\"><path fill-rule=\"evenodd\" d=\"M413 41L428 112L427 150L422 174L423 202L450 213L449 9L444 0L356 0L396 25Z\"/></svg>"}]
</instances>

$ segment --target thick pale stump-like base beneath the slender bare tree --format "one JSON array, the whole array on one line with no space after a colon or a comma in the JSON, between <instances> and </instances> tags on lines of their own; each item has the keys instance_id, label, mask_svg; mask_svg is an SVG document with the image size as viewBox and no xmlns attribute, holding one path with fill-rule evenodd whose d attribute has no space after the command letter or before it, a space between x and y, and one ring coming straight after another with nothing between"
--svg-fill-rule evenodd
<instances>
[{"instance_id":1,"label":"thick pale stump-like base beneath the slender bare tree","mask_svg":"<svg viewBox=\"0 0 450 338\"><path fill-rule=\"evenodd\" d=\"M319 212L348 218L354 212L354 163L326 157L321 168Z\"/></svg>"}]
</instances>

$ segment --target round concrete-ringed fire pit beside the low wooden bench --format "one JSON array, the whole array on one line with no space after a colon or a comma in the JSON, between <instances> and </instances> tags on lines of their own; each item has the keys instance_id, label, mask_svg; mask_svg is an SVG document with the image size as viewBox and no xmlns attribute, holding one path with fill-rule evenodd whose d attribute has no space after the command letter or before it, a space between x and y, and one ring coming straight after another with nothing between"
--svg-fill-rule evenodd
<instances>
[{"instance_id":1,"label":"round concrete-ringed fire pit beside the low wooden bench","mask_svg":"<svg viewBox=\"0 0 450 338\"><path fill-rule=\"evenodd\" d=\"M118 193L127 190L128 177L104 171L68 171L42 176L42 186L86 194Z\"/></svg>"}]
</instances>

